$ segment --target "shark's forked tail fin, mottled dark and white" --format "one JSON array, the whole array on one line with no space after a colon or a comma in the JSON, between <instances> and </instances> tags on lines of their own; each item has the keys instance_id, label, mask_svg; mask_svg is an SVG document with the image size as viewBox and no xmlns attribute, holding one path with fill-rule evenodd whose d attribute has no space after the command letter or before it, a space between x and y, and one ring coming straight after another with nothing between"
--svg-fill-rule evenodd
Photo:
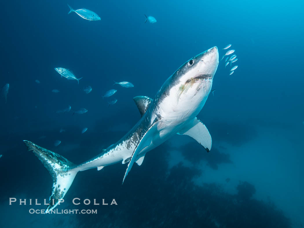
<instances>
[{"instance_id":1,"label":"shark's forked tail fin, mottled dark and white","mask_svg":"<svg viewBox=\"0 0 304 228\"><path fill-rule=\"evenodd\" d=\"M46 213L54 209L69 190L78 170L72 169L75 164L66 158L50 150L44 149L30 141L23 140L27 149L32 150L36 157L42 162L53 179L53 186L50 193L50 202Z\"/></svg>"}]
</instances>

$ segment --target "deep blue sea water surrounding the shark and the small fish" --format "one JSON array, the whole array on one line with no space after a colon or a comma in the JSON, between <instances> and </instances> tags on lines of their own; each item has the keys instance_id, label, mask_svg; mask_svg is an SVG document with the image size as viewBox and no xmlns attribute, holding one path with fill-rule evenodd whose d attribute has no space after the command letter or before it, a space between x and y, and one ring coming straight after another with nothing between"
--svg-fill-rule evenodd
<instances>
[{"instance_id":1,"label":"deep blue sea water surrounding the shark and the small fish","mask_svg":"<svg viewBox=\"0 0 304 228\"><path fill-rule=\"evenodd\" d=\"M302 227L303 1L68 4L93 10L101 21L67 15L67 2L57 0L0 3L0 86L10 85L7 103L0 97L0 227ZM157 22L144 23L144 14ZM57 208L98 209L97 215L39 215L29 209L44 206L9 206L10 197L43 202L52 185L22 140L79 164L140 119L134 96L153 98L185 61L213 46L221 59L228 43L238 68L229 76L230 67L219 63L214 96L198 115L212 136L210 153L177 135L134 165L123 185L126 165L80 172ZM60 78L55 67L83 78L79 85ZM102 95L113 88L118 101L107 107L111 98ZM56 113L68 105L88 112ZM74 206L76 197L115 198L118 205Z\"/></svg>"}]
</instances>

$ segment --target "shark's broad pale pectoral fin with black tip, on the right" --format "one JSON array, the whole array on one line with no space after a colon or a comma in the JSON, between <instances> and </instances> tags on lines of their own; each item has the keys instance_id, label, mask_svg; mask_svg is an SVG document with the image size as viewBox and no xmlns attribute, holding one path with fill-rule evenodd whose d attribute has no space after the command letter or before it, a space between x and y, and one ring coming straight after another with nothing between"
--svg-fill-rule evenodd
<instances>
[{"instance_id":1,"label":"shark's broad pale pectoral fin with black tip, on the right","mask_svg":"<svg viewBox=\"0 0 304 228\"><path fill-rule=\"evenodd\" d=\"M206 126L196 117L184 126L179 132L179 135L188 135L201 144L207 152L211 149L212 139Z\"/></svg>"}]
</instances>

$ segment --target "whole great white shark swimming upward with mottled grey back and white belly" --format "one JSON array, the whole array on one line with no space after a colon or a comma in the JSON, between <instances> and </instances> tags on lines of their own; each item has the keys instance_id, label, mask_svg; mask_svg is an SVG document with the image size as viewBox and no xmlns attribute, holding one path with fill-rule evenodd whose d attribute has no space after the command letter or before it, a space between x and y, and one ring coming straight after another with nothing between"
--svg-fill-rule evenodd
<instances>
[{"instance_id":1,"label":"whole great white shark swimming upward with mottled grey back and white belly","mask_svg":"<svg viewBox=\"0 0 304 228\"><path fill-rule=\"evenodd\" d=\"M141 119L117 143L82 164L73 164L59 154L24 140L28 150L33 151L53 179L46 212L54 209L64 198L79 171L101 170L119 162L128 163L123 177L125 181L134 162L141 165L148 151L176 134L192 137L209 152L211 136L196 116L211 91L218 64L218 49L212 47L181 65L164 82L154 99L134 97Z\"/></svg>"}]
</instances>

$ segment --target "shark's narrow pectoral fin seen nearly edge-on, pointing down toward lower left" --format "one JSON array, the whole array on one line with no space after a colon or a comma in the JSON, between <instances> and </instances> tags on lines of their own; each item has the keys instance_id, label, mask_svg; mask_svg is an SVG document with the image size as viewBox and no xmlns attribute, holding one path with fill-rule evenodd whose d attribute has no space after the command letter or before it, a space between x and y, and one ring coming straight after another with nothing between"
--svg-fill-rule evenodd
<instances>
[{"instance_id":1,"label":"shark's narrow pectoral fin seen nearly edge-on, pointing down toward lower left","mask_svg":"<svg viewBox=\"0 0 304 228\"><path fill-rule=\"evenodd\" d=\"M125 181L126 176L130 172L130 170L137 158L137 155L140 153L140 151L142 151L145 147L147 147L151 144L152 139L153 139L153 131L151 131L151 129L156 125L156 123L157 123L157 121L155 121L154 123L151 124L151 126L148 128L148 130L144 133L144 135L141 137L141 139L137 143L137 145L133 151L133 154L131 156L131 160L128 164L128 168L126 169L125 176L123 177L123 181Z\"/></svg>"}]
</instances>

